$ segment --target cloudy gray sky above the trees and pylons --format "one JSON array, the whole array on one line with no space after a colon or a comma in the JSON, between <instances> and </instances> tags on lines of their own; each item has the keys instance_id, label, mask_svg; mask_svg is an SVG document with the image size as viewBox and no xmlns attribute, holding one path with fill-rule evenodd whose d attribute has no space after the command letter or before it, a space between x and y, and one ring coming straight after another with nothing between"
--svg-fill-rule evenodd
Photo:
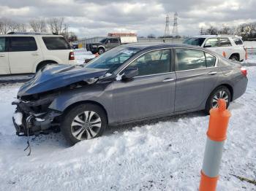
<instances>
[{"instance_id":1,"label":"cloudy gray sky above the trees and pylons","mask_svg":"<svg viewBox=\"0 0 256 191\"><path fill-rule=\"evenodd\" d=\"M237 26L256 21L256 0L0 0L0 17L29 22L35 17L65 17L79 37L109 32L135 32L139 36L165 32L165 17L178 12L178 31L199 33L200 26Z\"/></svg>"}]
</instances>

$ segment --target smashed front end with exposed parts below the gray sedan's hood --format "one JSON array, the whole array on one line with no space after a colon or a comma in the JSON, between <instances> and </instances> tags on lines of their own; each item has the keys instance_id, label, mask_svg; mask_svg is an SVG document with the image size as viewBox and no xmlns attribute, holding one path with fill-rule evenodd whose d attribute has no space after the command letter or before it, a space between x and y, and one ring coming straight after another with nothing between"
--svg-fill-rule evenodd
<instances>
[{"instance_id":1,"label":"smashed front end with exposed parts below the gray sedan's hood","mask_svg":"<svg viewBox=\"0 0 256 191\"><path fill-rule=\"evenodd\" d=\"M49 109L56 94L29 95L18 97L12 105L16 105L12 117L18 136L33 136L39 133L48 133L49 130L58 130L61 112Z\"/></svg>"}]
</instances>

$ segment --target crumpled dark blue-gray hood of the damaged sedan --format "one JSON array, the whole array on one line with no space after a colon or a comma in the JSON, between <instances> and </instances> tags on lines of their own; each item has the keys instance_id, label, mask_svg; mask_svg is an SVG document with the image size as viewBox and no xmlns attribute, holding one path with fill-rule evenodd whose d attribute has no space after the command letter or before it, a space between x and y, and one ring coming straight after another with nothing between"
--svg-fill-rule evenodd
<instances>
[{"instance_id":1,"label":"crumpled dark blue-gray hood of the damaged sedan","mask_svg":"<svg viewBox=\"0 0 256 191\"><path fill-rule=\"evenodd\" d=\"M43 93L90 78L102 77L108 69L89 69L83 66L49 65L20 87L18 96Z\"/></svg>"}]
</instances>

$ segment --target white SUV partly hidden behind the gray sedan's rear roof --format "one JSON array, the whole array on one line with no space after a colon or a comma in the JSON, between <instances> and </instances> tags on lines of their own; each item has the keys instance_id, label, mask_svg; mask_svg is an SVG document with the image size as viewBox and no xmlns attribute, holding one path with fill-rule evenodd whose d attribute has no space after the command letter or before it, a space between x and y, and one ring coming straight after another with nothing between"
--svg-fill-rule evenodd
<instances>
[{"instance_id":1,"label":"white SUV partly hidden behind the gray sedan's rear roof","mask_svg":"<svg viewBox=\"0 0 256 191\"><path fill-rule=\"evenodd\" d=\"M184 44L205 47L236 61L244 61L246 49L241 36L236 35L200 35L184 41Z\"/></svg>"}]
</instances>

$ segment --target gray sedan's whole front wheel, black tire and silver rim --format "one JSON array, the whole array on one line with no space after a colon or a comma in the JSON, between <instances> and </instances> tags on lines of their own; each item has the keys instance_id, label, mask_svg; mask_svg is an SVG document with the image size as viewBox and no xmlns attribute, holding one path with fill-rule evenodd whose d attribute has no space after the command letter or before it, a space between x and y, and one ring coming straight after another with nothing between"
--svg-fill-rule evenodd
<instances>
[{"instance_id":1,"label":"gray sedan's whole front wheel, black tire and silver rim","mask_svg":"<svg viewBox=\"0 0 256 191\"><path fill-rule=\"evenodd\" d=\"M107 116L104 110L94 104L75 106L69 109L62 119L61 132L70 145L102 136L107 126Z\"/></svg>"}]
</instances>

